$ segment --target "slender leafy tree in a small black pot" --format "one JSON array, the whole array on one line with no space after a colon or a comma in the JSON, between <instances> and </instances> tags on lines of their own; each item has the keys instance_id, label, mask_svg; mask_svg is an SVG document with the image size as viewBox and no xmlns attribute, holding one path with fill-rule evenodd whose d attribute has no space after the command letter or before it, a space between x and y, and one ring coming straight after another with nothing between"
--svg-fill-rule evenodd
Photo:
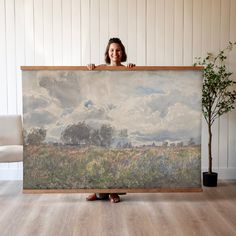
<instances>
[{"instance_id":1,"label":"slender leafy tree in a small black pot","mask_svg":"<svg viewBox=\"0 0 236 236\"><path fill-rule=\"evenodd\" d=\"M208 53L205 58L197 58L195 65L203 69L202 112L208 126L208 172L203 172L203 185L217 186L218 174L212 171L212 125L221 115L235 108L236 91L232 88L235 81L228 71L225 61L226 53L231 51L236 42L229 42L226 48L214 56Z\"/></svg>"}]
</instances>

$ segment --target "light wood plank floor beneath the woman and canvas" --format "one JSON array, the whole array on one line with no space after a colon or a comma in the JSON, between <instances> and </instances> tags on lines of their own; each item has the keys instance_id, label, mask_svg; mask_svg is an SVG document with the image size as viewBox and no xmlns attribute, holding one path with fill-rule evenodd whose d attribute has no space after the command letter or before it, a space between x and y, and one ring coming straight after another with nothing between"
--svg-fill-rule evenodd
<instances>
[{"instance_id":1,"label":"light wood plank floor beneath the woman and canvas","mask_svg":"<svg viewBox=\"0 0 236 236\"><path fill-rule=\"evenodd\" d=\"M236 235L236 181L200 193L129 193L118 204L86 195L23 194L21 181L0 181L0 235Z\"/></svg>"}]
</instances>

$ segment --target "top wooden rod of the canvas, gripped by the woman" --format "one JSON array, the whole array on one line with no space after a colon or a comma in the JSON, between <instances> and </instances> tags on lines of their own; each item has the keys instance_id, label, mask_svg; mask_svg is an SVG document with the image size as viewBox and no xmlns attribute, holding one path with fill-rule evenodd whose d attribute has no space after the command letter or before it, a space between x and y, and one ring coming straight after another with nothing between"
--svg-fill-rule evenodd
<instances>
[{"instance_id":1,"label":"top wooden rod of the canvas, gripped by the woman","mask_svg":"<svg viewBox=\"0 0 236 236\"><path fill-rule=\"evenodd\" d=\"M21 66L21 70L88 70L87 66ZM123 71L145 71L145 70L203 70L203 66L96 66L94 70L123 70Z\"/></svg>"}]
</instances>

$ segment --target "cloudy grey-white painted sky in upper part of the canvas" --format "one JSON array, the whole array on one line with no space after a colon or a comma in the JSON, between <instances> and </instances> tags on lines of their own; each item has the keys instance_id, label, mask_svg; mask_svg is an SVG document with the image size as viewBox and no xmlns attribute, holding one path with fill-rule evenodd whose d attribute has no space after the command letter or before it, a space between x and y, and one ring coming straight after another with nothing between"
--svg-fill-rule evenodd
<instances>
[{"instance_id":1,"label":"cloudy grey-white painted sky in upper part of the canvas","mask_svg":"<svg viewBox=\"0 0 236 236\"><path fill-rule=\"evenodd\" d=\"M59 141L72 123L127 129L132 144L200 143L200 71L23 71L24 128Z\"/></svg>"}]
</instances>

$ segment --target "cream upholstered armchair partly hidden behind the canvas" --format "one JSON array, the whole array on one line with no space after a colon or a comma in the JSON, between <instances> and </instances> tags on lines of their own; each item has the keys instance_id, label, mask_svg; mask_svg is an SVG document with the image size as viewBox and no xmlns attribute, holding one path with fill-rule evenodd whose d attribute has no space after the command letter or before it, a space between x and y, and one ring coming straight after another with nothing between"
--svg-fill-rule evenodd
<instances>
[{"instance_id":1,"label":"cream upholstered armchair partly hidden behind the canvas","mask_svg":"<svg viewBox=\"0 0 236 236\"><path fill-rule=\"evenodd\" d=\"M20 115L0 115L0 162L23 161L23 132Z\"/></svg>"}]
</instances>

